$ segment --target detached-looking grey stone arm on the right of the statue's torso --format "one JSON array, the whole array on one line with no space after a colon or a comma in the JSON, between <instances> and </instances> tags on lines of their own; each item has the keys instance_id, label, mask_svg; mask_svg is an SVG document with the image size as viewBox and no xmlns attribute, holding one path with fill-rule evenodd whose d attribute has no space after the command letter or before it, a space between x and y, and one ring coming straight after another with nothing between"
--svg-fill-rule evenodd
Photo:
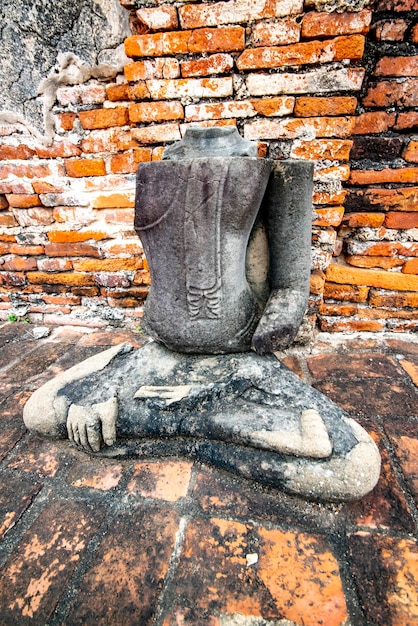
<instances>
[{"instance_id":1,"label":"detached-looking grey stone arm on the right of the statue's torso","mask_svg":"<svg viewBox=\"0 0 418 626\"><path fill-rule=\"evenodd\" d=\"M311 269L313 163L277 161L264 198L270 298L253 336L259 354L291 344L305 313Z\"/></svg>"}]
</instances>

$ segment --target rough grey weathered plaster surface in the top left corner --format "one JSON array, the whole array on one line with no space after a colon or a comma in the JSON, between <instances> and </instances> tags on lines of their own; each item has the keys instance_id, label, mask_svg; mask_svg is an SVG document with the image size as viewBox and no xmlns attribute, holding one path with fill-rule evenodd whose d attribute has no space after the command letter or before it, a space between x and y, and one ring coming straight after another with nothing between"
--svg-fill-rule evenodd
<instances>
[{"instance_id":1,"label":"rough grey weathered plaster surface in the top left corner","mask_svg":"<svg viewBox=\"0 0 418 626\"><path fill-rule=\"evenodd\" d=\"M0 30L0 111L42 129L38 85L57 53L74 53L90 66L109 64L129 34L128 13L118 0L2 0Z\"/></svg>"}]
</instances>

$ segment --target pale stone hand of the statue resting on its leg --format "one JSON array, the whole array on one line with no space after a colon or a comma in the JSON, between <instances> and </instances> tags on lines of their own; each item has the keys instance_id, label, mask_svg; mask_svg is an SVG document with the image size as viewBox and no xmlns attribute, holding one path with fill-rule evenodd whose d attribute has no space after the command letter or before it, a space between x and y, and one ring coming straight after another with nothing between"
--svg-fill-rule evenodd
<instances>
[{"instance_id":1,"label":"pale stone hand of the statue resting on its leg","mask_svg":"<svg viewBox=\"0 0 418 626\"><path fill-rule=\"evenodd\" d=\"M68 438L88 452L99 452L102 445L111 446L116 441L116 398L90 406L72 404L68 411Z\"/></svg>"}]
</instances>

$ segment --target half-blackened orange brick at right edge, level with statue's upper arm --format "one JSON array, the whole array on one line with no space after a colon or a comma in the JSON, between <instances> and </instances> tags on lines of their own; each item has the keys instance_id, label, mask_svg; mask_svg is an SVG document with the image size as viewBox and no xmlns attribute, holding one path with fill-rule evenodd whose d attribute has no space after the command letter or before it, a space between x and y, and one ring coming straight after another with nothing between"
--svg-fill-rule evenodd
<instances>
[{"instance_id":1,"label":"half-blackened orange brick at right edge, level with statue's upper arm","mask_svg":"<svg viewBox=\"0 0 418 626\"><path fill-rule=\"evenodd\" d=\"M418 211L418 187L350 190L346 208L356 211Z\"/></svg>"}]
</instances>

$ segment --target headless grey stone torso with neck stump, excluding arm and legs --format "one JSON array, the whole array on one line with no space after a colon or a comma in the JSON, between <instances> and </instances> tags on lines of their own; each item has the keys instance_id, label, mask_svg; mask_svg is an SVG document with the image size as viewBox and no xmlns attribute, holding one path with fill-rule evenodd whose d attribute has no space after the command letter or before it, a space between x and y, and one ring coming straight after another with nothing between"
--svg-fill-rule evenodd
<instances>
[{"instance_id":1,"label":"headless grey stone torso with neck stump, excluding arm and legs","mask_svg":"<svg viewBox=\"0 0 418 626\"><path fill-rule=\"evenodd\" d=\"M191 131L138 169L135 229L152 280L144 328L179 352L245 351L261 313L246 251L272 161L236 131Z\"/></svg>"}]
</instances>

